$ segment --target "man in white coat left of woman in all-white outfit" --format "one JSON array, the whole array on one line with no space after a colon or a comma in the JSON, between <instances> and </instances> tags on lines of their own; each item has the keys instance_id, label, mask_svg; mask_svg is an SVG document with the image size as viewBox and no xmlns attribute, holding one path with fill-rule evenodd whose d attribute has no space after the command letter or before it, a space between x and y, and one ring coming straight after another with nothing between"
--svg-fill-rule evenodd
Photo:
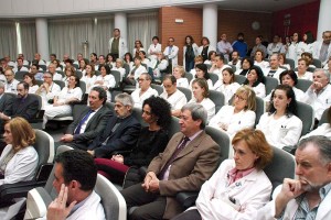
<instances>
[{"instance_id":1,"label":"man in white coat left of woman in all-white outfit","mask_svg":"<svg viewBox=\"0 0 331 220\"><path fill-rule=\"evenodd\" d=\"M45 72L43 75L44 82L35 91L36 95L40 95L43 99L43 109L45 106L49 106L50 102L53 102L54 97L58 96L61 92L61 87L53 81L53 75L49 72Z\"/></svg>"}]
</instances>

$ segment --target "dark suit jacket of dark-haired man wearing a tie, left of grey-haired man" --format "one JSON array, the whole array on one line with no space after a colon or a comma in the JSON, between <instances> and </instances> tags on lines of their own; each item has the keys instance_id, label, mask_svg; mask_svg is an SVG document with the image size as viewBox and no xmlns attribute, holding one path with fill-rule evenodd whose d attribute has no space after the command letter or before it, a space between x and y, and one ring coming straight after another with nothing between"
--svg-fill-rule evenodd
<instances>
[{"instance_id":1,"label":"dark suit jacket of dark-haired man wearing a tie, left of grey-haired man","mask_svg":"<svg viewBox=\"0 0 331 220\"><path fill-rule=\"evenodd\" d=\"M89 107L86 107L81 116L71 123L65 133L74 134L75 129L78 127L82 119L90 110ZM103 133L106 128L107 121L113 116L113 112L105 105L88 120L85 131L82 134L74 134L74 140L70 143L71 146L87 150L88 145L100 133Z\"/></svg>"}]
</instances>

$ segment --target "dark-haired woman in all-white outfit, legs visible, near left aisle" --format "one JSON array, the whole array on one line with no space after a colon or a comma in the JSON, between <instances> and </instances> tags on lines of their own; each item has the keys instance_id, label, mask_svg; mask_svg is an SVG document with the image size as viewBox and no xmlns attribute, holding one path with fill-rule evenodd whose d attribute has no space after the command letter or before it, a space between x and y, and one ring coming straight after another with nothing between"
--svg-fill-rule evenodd
<instances>
[{"instance_id":1,"label":"dark-haired woman in all-white outfit, legs visible, near left aisle","mask_svg":"<svg viewBox=\"0 0 331 220\"><path fill-rule=\"evenodd\" d=\"M45 107L43 128L50 119L61 114L72 114L71 103L81 101L83 91L79 88L79 78L71 76L67 87L64 87L58 96L54 97L54 103Z\"/></svg>"}]
</instances>

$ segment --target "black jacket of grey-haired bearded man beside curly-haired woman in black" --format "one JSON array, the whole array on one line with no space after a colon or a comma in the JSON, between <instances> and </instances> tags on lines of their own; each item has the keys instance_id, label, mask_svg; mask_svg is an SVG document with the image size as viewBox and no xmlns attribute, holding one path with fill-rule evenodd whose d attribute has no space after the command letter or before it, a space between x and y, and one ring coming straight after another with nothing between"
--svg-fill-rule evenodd
<instances>
[{"instance_id":1,"label":"black jacket of grey-haired bearded man beside curly-haired woman in black","mask_svg":"<svg viewBox=\"0 0 331 220\"><path fill-rule=\"evenodd\" d=\"M106 129L100 135L97 135L88 150L94 150L96 157L109 158L114 151L131 150L136 146L140 133L140 123L130 114L122 119L115 132L111 132L117 122L117 117L114 116L108 120ZM102 145L108 139L106 145Z\"/></svg>"}]
</instances>

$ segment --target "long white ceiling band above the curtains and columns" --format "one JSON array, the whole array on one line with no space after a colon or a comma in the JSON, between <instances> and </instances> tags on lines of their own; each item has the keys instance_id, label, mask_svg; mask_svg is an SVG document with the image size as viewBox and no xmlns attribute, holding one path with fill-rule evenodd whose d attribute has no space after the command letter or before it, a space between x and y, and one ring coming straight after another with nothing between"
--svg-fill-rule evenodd
<instances>
[{"instance_id":1,"label":"long white ceiling band above the curtains and columns","mask_svg":"<svg viewBox=\"0 0 331 220\"><path fill-rule=\"evenodd\" d=\"M223 0L215 0L223 1ZM0 0L0 18L36 18L82 13L127 12L163 6L202 3L201 0Z\"/></svg>"}]
</instances>

